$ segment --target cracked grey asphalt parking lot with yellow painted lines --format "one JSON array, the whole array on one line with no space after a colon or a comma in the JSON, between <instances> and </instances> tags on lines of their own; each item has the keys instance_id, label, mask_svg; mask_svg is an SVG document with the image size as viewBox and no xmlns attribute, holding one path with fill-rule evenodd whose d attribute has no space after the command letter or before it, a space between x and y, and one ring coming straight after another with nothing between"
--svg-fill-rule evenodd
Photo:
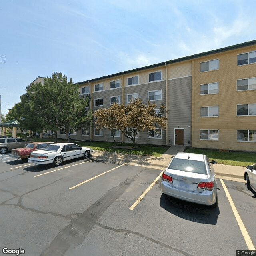
<instances>
[{"instance_id":1,"label":"cracked grey asphalt parking lot with yellow painted lines","mask_svg":"<svg viewBox=\"0 0 256 256\"><path fill-rule=\"evenodd\" d=\"M218 179L212 209L164 196L160 174L92 158L52 167L1 155L1 246L24 255L178 256L236 255L256 244L256 198L244 183Z\"/></svg>"}]
</instances>

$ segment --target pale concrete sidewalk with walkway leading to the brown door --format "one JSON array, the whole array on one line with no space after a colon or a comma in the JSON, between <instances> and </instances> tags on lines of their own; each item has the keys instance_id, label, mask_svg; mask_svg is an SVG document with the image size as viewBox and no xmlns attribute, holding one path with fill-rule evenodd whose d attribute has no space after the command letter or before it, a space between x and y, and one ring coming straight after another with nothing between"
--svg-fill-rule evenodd
<instances>
[{"instance_id":1,"label":"pale concrete sidewalk with walkway leading to the brown door","mask_svg":"<svg viewBox=\"0 0 256 256\"><path fill-rule=\"evenodd\" d=\"M155 169L164 170L171 160L171 156L174 156L178 152L183 152L185 146L171 146L162 156L145 156L145 155L131 155L122 153L113 153L106 151L94 150L92 156L98 160L105 160L110 162L129 163L134 165L142 165ZM244 181L245 167L231 166L225 164L214 164L214 170L216 178L224 180L234 180L238 182Z\"/></svg>"}]
</instances>

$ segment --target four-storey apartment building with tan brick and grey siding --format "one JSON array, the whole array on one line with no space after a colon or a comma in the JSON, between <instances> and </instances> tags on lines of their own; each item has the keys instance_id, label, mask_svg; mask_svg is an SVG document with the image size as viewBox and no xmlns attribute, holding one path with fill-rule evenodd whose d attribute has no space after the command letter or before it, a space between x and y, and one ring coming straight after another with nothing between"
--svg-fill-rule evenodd
<instances>
[{"instance_id":1,"label":"four-storey apartment building with tan brick and grey siding","mask_svg":"<svg viewBox=\"0 0 256 256\"><path fill-rule=\"evenodd\" d=\"M140 132L137 143L256 151L256 40L78 84L93 111L132 97L164 104L166 129ZM113 140L105 128L70 132L74 139ZM131 142L118 130L114 136Z\"/></svg>"}]
</instances>

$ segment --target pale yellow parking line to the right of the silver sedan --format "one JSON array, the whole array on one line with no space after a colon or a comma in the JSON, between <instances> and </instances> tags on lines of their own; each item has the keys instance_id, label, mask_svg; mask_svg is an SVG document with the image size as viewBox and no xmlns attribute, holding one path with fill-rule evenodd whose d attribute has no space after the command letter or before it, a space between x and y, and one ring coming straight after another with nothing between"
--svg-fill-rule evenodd
<instances>
[{"instance_id":1,"label":"pale yellow parking line to the right of the silver sedan","mask_svg":"<svg viewBox=\"0 0 256 256\"><path fill-rule=\"evenodd\" d=\"M220 182L222 184L222 187L224 188L224 191L226 193L226 196L228 198L230 206L231 206L231 208L232 208L232 210L234 212L234 215L236 217L236 221L237 221L238 226L239 226L239 228L240 228L240 230L242 232L244 240L245 240L245 242L247 244L248 250L255 250L255 247L254 247L254 245L252 243L252 240L251 240L251 238L250 238L250 236L249 236L249 234L248 234L248 232L247 232L247 230L246 230L246 228L244 226L244 223L242 222L242 219L240 218L240 216L238 214L238 211L236 210L236 206L234 205L234 202L233 202L233 200L232 200L232 198L231 198L231 196L230 196L230 194L228 192L228 189L227 189L226 185L224 184L224 181L222 179L220 179Z\"/></svg>"}]
</instances>

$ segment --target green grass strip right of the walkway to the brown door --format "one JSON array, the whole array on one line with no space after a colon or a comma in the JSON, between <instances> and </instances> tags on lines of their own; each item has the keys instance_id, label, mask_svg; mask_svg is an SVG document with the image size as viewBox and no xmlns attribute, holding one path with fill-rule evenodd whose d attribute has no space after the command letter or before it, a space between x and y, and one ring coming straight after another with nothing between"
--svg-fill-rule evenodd
<instances>
[{"instance_id":1,"label":"green grass strip right of the walkway to the brown door","mask_svg":"<svg viewBox=\"0 0 256 256\"><path fill-rule=\"evenodd\" d=\"M215 160L218 164L228 164L234 166L248 166L256 163L256 152L220 152L218 150L207 150L188 148L185 152L204 154Z\"/></svg>"}]
</instances>

